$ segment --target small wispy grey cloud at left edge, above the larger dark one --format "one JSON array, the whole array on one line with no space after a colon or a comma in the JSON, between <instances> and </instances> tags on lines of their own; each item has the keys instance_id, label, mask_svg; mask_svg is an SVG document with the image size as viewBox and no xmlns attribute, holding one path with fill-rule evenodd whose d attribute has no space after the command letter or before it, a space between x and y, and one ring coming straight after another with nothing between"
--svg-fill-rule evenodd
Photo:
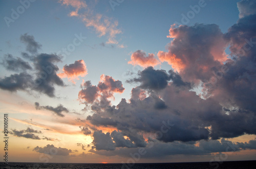
<instances>
[{"instance_id":1,"label":"small wispy grey cloud at left edge, above the larger dark one","mask_svg":"<svg viewBox=\"0 0 256 169\"><path fill-rule=\"evenodd\" d=\"M11 54L7 54L4 57L1 65L3 65L7 70L12 70L16 72L32 69L28 62L25 62L18 57L14 58Z\"/></svg>"}]
</instances>

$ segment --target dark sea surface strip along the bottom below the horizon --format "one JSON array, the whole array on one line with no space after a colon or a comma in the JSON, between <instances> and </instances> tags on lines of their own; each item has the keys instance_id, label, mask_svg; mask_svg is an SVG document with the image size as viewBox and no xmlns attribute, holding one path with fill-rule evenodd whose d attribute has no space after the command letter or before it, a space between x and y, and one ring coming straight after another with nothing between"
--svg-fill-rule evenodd
<instances>
[{"instance_id":1,"label":"dark sea surface strip along the bottom below the horizon","mask_svg":"<svg viewBox=\"0 0 256 169\"><path fill-rule=\"evenodd\" d=\"M135 163L135 164L93 164L93 163L30 163L10 162L7 165L0 163L1 168L86 168L86 169L116 169L116 168L256 168L256 161L224 161L224 162L183 162L183 163Z\"/></svg>"}]
</instances>

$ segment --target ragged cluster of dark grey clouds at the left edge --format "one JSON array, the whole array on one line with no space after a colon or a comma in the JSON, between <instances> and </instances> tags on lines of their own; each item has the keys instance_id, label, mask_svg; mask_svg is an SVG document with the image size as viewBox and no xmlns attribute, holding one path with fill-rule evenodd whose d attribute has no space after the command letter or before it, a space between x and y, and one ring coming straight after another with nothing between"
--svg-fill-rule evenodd
<instances>
[{"instance_id":1,"label":"ragged cluster of dark grey clouds at the left edge","mask_svg":"<svg viewBox=\"0 0 256 169\"><path fill-rule=\"evenodd\" d=\"M61 57L56 54L36 53L37 51L34 51L36 47L33 46L36 46L37 42L34 42L33 36L25 34L20 39L28 43L29 49L33 48L33 51L31 51L33 52L33 57L28 55L28 53L22 53L24 58L32 62L33 68L31 68L28 62L8 54L2 63L6 65L6 69L13 71L22 70L23 72L0 78L0 88L11 92L21 90L31 93L31 91L37 91L49 97L55 97L55 85L64 86L63 81L56 74L59 69L54 65L54 63L61 62ZM37 48L39 47L37 46ZM28 70L29 73L27 72Z\"/></svg>"}]
</instances>

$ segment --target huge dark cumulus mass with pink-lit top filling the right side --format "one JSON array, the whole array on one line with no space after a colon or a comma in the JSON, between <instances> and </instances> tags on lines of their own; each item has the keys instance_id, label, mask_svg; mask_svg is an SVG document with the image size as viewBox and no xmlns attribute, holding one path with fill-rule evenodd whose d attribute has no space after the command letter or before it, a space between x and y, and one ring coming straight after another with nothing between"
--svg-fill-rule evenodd
<instances>
[{"instance_id":1,"label":"huge dark cumulus mass with pink-lit top filling the right side","mask_svg":"<svg viewBox=\"0 0 256 169\"><path fill-rule=\"evenodd\" d=\"M256 134L254 20L254 14L245 15L225 34L216 24L172 25L168 51L158 52L159 60L172 69L147 67L127 80L138 83L130 101L92 107L95 113L87 120L115 130L96 130L90 152L127 157L144 148L144 157L152 158L255 149L255 140L226 139Z\"/></svg>"}]
</instances>

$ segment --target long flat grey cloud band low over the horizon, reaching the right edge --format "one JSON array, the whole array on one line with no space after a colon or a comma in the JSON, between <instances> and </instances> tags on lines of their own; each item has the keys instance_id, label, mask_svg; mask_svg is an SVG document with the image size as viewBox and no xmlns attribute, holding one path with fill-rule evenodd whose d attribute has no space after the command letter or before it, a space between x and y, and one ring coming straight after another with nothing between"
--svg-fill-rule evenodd
<instances>
[{"instance_id":1,"label":"long flat grey cloud band low over the horizon, reaching the right edge","mask_svg":"<svg viewBox=\"0 0 256 169\"><path fill-rule=\"evenodd\" d=\"M104 156L115 156L119 155L122 157L130 157L136 160L140 158L163 158L170 155L210 155L211 153L217 152L238 152L241 150L255 150L255 146L252 145L255 140L250 140L249 144L244 143L234 143L225 139L219 140L200 140L199 146L194 144L187 144L183 142L172 142L172 143L162 143L162 142L148 142L145 148L119 148L114 151L95 151L93 149L89 152L96 153ZM247 145L247 146L244 146ZM140 159L139 158L139 159ZM139 160L138 159L138 160Z\"/></svg>"}]
</instances>

